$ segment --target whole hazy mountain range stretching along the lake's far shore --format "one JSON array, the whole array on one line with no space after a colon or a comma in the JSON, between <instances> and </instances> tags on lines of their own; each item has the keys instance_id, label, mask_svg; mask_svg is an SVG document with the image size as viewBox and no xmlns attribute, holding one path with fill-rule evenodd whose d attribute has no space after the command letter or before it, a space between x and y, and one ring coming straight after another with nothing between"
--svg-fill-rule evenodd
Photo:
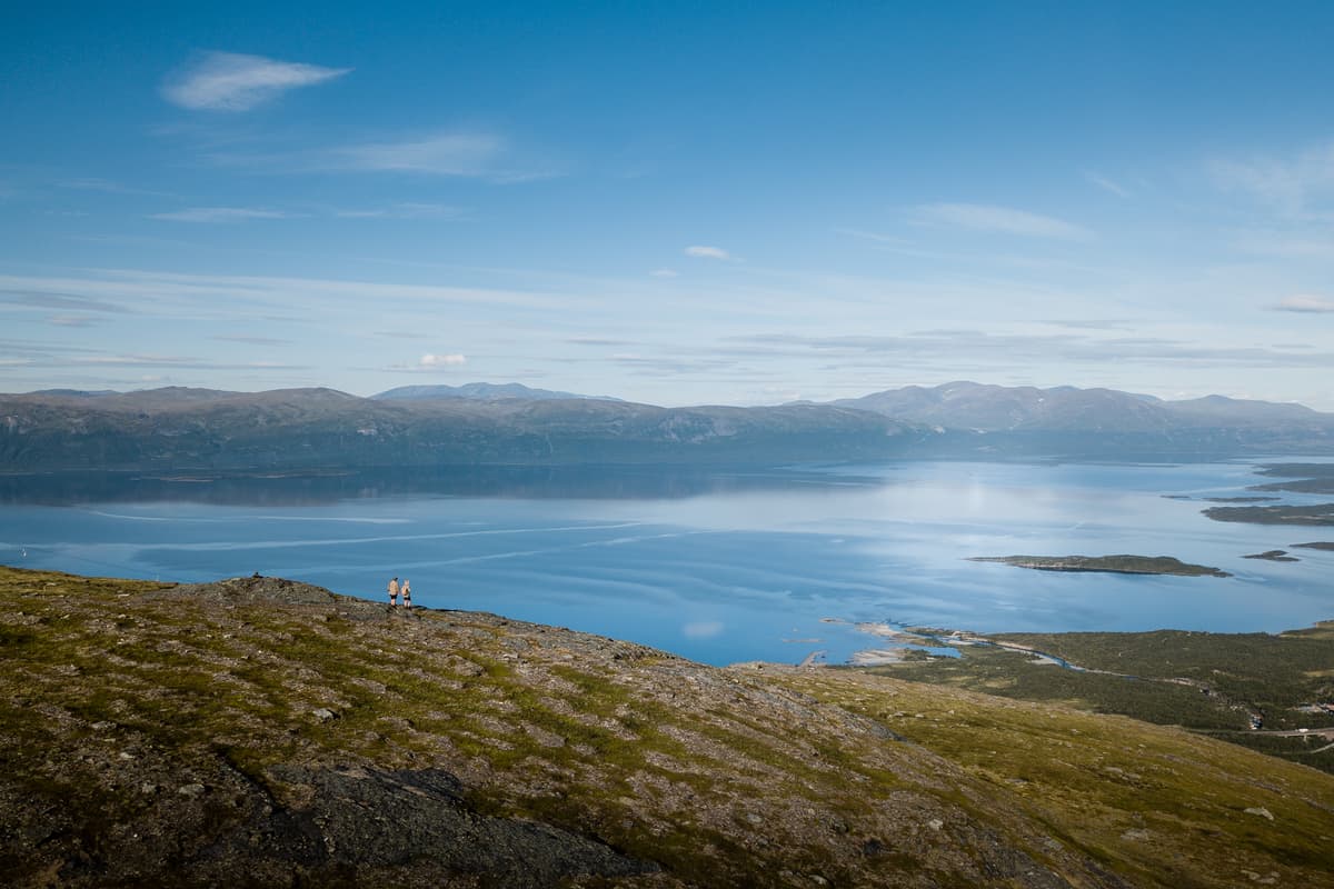
<instances>
[{"instance_id":1,"label":"whole hazy mountain range stretching along the lake's far shore","mask_svg":"<svg viewBox=\"0 0 1334 889\"><path fill-rule=\"evenodd\" d=\"M1334 453L1334 415L1209 396L952 383L826 404L662 408L518 384L0 395L0 469L792 462Z\"/></svg>"}]
</instances>

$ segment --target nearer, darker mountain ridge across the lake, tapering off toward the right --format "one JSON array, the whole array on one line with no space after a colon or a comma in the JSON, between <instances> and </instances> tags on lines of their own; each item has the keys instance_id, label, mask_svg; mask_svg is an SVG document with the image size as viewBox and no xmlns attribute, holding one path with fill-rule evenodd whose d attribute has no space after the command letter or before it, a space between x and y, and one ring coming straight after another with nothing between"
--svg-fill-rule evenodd
<instances>
[{"instance_id":1,"label":"nearer, darker mountain ridge across the lake, tapering off toward the right","mask_svg":"<svg viewBox=\"0 0 1334 889\"><path fill-rule=\"evenodd\" d=\"M375 400L331 389L0 397L9 470L874 460L944 437L838 407Z\"/></svg>"}]
</instances>

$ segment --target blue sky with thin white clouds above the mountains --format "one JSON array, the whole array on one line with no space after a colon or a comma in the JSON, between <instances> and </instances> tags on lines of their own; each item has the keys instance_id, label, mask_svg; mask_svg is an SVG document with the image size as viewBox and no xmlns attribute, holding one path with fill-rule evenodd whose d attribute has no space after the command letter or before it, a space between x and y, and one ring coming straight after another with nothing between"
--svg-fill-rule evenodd
<instances>
[{"instance_id":1,"label":"blue sky with thin white clouds above the mountains","mask_svg":"<svg viewBox=\"0 0 1334 889\"><path fill-rule=\"evenodd\" d=\"M1334 5L8 4L0 391L1334 411Z\"/></svg>"}]
</instances>

